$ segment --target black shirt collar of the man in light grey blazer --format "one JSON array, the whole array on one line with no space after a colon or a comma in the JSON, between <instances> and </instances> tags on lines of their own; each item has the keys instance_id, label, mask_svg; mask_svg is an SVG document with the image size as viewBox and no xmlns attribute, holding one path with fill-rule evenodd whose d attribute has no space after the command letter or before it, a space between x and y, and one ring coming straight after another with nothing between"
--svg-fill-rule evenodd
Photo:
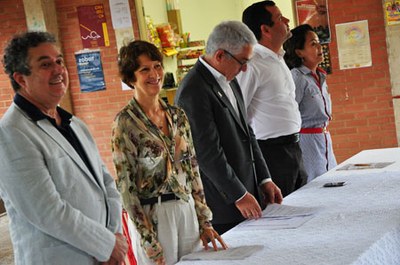
<instances>
[{"instance_id":1,"label":"black shirt collar of the man in light grey blazer","mask_svg":"<svg viewBox=\"0 0 400 265\"><path fill-rule=\"evenodd\" d=\"M14 103L20 107L23 111L26 112L26 114L33 120L33 121L39 121L43 119L48 119L51 122L55 123L55 120L47 115L45 115L43 112L39 110L38 107L33 105L29 100L21 96L19 93L16 93L14 96ZM72 114L69 113L68 111L57 107L57 112L61 117L61 123L62 124L69 124L71 122Z\"/></svg>"}]
</instances>

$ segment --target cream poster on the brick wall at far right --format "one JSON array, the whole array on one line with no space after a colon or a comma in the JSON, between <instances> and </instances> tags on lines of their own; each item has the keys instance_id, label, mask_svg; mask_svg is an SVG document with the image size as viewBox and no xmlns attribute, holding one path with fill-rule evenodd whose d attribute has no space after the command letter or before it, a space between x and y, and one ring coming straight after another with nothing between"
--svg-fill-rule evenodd
<instances>
[{"instance_id":1,"label":"cream poster on the brick wall at far right","mask_svg":"<svg viewBox=\"0 0 400 265\"><path fill-rule=\"evenodd\" d=\"M340 69L372 65L368 21L355 21L336 25Z\"/></svg>"}]
</instances>

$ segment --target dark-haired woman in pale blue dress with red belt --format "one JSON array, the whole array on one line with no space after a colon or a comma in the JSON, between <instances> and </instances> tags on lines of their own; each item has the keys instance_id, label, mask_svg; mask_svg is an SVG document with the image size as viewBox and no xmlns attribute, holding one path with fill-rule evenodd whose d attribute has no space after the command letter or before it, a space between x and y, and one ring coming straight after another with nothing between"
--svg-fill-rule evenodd
<instances>
[{"instance_id":1,"label":"dark-haired woman in pale blue dress with red belt","mask_svg":"<svg viewBox=\"0 0 400 265\"><path fill-rule=\"evenodd\" d=\"M318 35L308 24L292 29L284 44L285 61L296 84L296 101L301 114L300 148L308 182L336 166L331 135L332 103L326 72L318 67L323 60Z\"/></svg>"}]
</instances>

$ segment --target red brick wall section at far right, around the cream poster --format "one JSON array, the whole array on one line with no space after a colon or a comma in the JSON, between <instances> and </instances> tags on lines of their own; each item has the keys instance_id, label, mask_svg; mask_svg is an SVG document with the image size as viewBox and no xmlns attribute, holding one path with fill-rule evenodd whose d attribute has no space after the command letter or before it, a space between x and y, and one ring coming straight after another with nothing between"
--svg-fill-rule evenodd
<instances>
[{"instance_id":1,"label":"red brick wall section at far right, around the cream poster","mask_svg":"<svg viewBox=\"0 0 400 265\"><path fill-rule=\"evenodd\" d=\"M330 131L338 162L363 149L397 146L385 21L380 0L329 0L333 74ZM372 67L340 70L335 24L368 20Z\"/></svg>"}]
</instances>

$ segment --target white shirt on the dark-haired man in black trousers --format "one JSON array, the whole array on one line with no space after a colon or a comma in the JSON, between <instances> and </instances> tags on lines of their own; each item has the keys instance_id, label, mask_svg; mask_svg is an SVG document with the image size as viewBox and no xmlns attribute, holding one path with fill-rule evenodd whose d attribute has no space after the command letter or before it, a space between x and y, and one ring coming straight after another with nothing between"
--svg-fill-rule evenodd
<instances>
[{"instance_id":1,"label":"white shirt on the dark-haired man in black trousers","mask_svg":"<svg viewBox=\"0 0 400 265\"><path fill-rule=\"evenodd\" d=\"M276 54L256 44L247 71L237 77L248 119L258 140L300 131L301 117L295 99L296 87L283 55L283 50Z\"/></svg>"}]
</instances>

